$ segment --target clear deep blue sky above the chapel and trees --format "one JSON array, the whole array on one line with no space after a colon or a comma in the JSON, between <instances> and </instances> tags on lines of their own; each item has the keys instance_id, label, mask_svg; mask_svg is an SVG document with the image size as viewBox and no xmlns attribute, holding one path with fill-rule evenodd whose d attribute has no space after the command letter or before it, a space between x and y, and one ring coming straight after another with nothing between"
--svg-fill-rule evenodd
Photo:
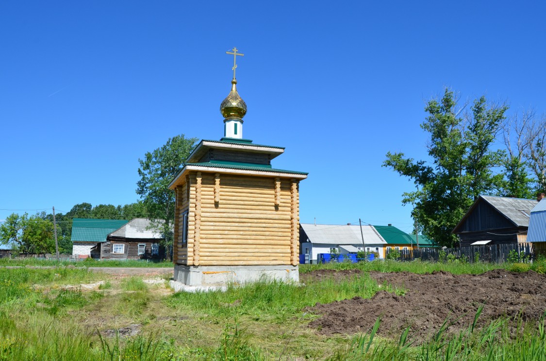
<instances>
[{"instance_id":1,"label":"clear deep blue sky above the chapel and trees","mask_svg":"<svg viewBox=\"0 0 546 361\"><path fill-rule=\"evenodd\" d=\"M2 2L0 219L134 202L138 158L184 133L219 139L232 57L244 137L309 172L302 222L411 231L381 167L426 158L444 87L546 110L542 2ZM6 210L7 209L7 210Z\"/></svg>"}]
</instances>

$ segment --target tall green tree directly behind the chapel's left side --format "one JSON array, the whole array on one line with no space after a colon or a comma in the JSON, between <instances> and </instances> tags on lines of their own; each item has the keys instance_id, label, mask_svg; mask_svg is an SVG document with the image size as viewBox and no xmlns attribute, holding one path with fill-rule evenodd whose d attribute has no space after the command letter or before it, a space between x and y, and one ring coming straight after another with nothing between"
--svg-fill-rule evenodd
<instances>
[{"instance_id":1,"label":"tall green tree directly behind the chapel's left side","mask_svg":"<svg viewBox=\"0 0 546 361\"><path fill-rule=\"evenodd\" d=\"M197 138L177 135L169 138L165 145L146 152L144 159L139 159L140 180L136 183L136 194L143 200L152 220L151 226L161 228L168 248L173 245L174 222L174 192L168 186L182 170L197 141ZM170 256L170 252L167 253Z\"/></svg>"}]
</instances>

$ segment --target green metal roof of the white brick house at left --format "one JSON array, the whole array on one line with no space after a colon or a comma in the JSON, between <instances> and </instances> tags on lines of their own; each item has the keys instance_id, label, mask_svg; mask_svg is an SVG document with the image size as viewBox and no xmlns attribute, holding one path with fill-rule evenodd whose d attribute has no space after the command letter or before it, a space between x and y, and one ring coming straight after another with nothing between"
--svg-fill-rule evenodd
<instances>
[{"instance_id":1,"label":"green metal roof of the white brick house at left","mask_svg":"<svg viewBox=\"0 0 546 361\"><path fill-rule=\"evenodd\" d=\"M74 218L72 220L73 242L105 242L108 234L126 225L128 220Z\"/></svg>"}]
</instances>

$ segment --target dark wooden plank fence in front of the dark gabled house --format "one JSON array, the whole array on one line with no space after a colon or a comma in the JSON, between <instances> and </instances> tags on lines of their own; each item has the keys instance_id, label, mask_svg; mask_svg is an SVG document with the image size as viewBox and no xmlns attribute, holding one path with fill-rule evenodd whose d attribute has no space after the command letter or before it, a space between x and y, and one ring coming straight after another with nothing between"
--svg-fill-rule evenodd
<instances>
[{"instance_id":1,"label":"dark wooden plank fence in front of the dark gabled house","mask_svg":"<svg viewBox=\"0 0 546 361\"><path fill-rule=\"evenodd\" d=\"M475 245L460 248L420 248L399 250L399 261L422 260L430 262L446 262L447 260L465 258L468 262L506 262L510 251L518 252L518 261L533 259L532 243L504 243L491 245ZM387 255L392 249L387 248ZM443 253L442 253L443 252ZM440 256L443 256L440 259Z\"/></svg>"}]
</instances>

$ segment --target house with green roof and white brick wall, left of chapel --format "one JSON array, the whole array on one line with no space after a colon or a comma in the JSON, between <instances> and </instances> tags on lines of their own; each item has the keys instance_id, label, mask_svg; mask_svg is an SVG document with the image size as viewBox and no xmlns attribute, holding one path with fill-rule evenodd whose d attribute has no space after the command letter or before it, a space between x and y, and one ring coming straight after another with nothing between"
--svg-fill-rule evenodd
<instances>
[{"instance_id":1,"label":"house with green roof and white brick wall, left of chapel","mask_svg":"<svg viewBox=\"0 0 546 361\"><path fill-rule=\"evenodd\" d=\"M126 225L123 219L74 218L72 220L72 254L74 256L91 255L91 248L106 242L108 234Z\"/></svg>"}]
</instances>

